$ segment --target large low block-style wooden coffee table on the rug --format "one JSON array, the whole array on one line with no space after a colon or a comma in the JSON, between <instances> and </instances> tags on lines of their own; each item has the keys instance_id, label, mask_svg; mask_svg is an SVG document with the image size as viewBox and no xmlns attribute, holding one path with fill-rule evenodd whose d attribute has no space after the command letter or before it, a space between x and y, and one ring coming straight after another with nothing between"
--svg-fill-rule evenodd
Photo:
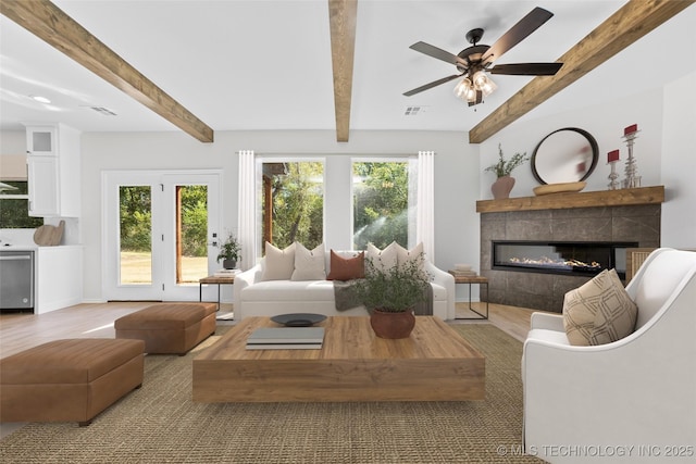
<instances>
[{"instance_id":1,"label":"large low block-style wooden coffee table on the rug","mask_svg":"<svg viewBox=\"0 0 696 464\"><path fill-rule=\"evenodd\" d=\"M194 360L194 401L463 401L485 399L485 359L435 316L386 340L369 317L328 317L321 350L247 350L269 317L247 317Z\"/></svg>"}]
</instances>

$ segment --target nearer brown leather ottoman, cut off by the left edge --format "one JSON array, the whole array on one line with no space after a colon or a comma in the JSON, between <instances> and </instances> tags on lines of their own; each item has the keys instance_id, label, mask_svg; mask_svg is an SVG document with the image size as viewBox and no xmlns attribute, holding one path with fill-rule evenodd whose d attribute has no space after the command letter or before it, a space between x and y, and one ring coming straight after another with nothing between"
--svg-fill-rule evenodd
<instances>
[{"instance_id":1,"label":"nearer brown leather ottoman, cut off by the left edge","mask_svg":"<svg viewBox=\"0 0 696 464\"><path fill-rule=\"evenodd\" d=\"M140 340L55 340L0 360L0 422L92 417L142 385Z\"/></svg>"}]
</instances>

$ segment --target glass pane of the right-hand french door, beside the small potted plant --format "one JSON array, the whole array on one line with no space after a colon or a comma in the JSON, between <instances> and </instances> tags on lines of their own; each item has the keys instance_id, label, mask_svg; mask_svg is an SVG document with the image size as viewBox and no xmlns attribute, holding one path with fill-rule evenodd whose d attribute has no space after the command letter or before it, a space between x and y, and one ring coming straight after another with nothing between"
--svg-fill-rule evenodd
<instances>
[{"instance_id":1,"label":"glass pane of the right-hand french door, beside the small potted plant","mask_svg":"<svg viewBox=\"0 0 696 464\"><path fill-rule=\"evenodd\" d=\"M208 275L208 186L176 186L176 284Z\"/></svg>"}]
</instances>

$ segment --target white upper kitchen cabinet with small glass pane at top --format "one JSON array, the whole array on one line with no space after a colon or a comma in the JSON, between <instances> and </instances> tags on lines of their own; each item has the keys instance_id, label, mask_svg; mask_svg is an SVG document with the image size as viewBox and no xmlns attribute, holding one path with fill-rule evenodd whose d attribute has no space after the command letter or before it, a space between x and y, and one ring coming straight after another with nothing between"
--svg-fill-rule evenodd
<instances>
[{"instance_id":1,"label":"white upper kitchen cabinet with small glass pane at top","mask_svg":"<svg viewBox=\"0 0 696 464\"><path fill-rule=\"evenodd\" d=\"M79 131L63 124L27 125L29 215L79 217Z\"/></svg>"}]
</instances>

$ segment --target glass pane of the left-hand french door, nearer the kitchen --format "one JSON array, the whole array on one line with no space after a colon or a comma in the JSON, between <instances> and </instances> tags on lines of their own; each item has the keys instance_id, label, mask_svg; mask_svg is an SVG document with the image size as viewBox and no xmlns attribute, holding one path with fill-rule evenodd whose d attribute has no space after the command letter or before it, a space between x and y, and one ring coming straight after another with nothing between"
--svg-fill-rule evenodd
<instances>
[{"instance_id":1,"label":"glass pane of the left-hand french door, nearer the kitchen","mask_svg":"<svg viewBox=\"0 0 696 464\"><path fill-rule=\"evenodd\" d=\"M149 186L119 187L121 285L152 284L152 195Z\"/></svg>"}]
</instances>

